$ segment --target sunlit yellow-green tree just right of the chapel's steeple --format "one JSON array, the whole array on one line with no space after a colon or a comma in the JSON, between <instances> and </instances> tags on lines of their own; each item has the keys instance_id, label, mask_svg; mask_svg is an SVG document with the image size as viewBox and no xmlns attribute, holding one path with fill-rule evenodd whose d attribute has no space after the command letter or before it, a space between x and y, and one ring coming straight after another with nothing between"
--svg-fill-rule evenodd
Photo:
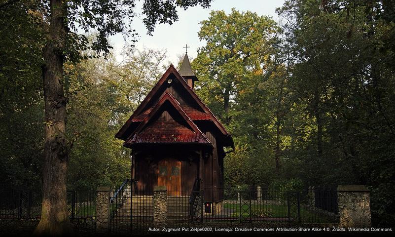
<instances>
[{"instance_id":1,"label":"sunlit yellow-green tree just right of the chapel's steeple","mask_svg":"<svg viewBox=\"0 0 395 237\"><path fill-rule=\"evenodd\" d=\"M228 184L269 184L273 153L264 81L280 29L265 16L232 9L212 11L198 33L207 44L192 61L196 92L234 137L236 149L225 158Z\"/></svg>"}]
</instances>

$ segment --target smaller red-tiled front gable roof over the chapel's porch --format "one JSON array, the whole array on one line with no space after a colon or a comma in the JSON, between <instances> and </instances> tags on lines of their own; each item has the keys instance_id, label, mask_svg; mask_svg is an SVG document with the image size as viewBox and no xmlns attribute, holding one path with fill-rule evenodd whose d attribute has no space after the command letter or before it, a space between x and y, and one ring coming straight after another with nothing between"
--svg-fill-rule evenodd
<instances>
[{"instance_id":1,"label":"smaller red-tiled front gable roof over the chapel's porch","mask_svg":"<svg viewBox=\"0 0 395 237\"><path fill-rule=\"evenodd\" d=\"M162 110L166 103L173 110ZM185 124L181 124L173 117L166 121L156 119L164 111L178 113ZM211 145L211 141L199 130L195 123L186 115L179 102L166 92L149 115L125 141L124 146L130 147L135 143L201 143Z\"/></svg>"}]
</instances>

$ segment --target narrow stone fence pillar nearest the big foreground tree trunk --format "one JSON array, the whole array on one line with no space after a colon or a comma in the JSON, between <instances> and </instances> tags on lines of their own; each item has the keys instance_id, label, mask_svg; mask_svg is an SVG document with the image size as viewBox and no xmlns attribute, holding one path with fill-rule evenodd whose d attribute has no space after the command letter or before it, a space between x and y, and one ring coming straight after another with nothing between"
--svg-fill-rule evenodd
<instances>
[{"instance_id":1,"label":"narrow stone fence pillar nearest the big foreground tree trunk","mask_svg":"<svg viewBox=\"0 0 395 237\"><path fill-rule=\"evenodd\" d=\"M99 233L107 233L109 230L110 187L97 187L96 191L96 230Z\"/></svg>"}]
</instances>

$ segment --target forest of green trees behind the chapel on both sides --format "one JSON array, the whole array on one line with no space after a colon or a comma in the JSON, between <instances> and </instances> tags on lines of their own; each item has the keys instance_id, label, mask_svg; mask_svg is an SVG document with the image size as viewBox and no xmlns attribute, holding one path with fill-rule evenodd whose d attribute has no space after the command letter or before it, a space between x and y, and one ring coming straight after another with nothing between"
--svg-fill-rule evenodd
<instances>
[{"instance_id":1,"label":"forest of green trees behind the chapel on both sides","mask_svg":"<svg viewBox=\"0 0 395 237\"><path fill-rule=\"evenodd\" d=\"M0 5L0 180L40 189L46 23L36 6ZM286 0L277 13L282 24L235 9L201 22L195 91L234 138L226 184L364 184L373 224L394 225L393 2ZM130 177L130 150L114 134L170 62L165 50L124 51L122 63L86 49L64 65L69 189Z\"/></svg>"}]
</instances>

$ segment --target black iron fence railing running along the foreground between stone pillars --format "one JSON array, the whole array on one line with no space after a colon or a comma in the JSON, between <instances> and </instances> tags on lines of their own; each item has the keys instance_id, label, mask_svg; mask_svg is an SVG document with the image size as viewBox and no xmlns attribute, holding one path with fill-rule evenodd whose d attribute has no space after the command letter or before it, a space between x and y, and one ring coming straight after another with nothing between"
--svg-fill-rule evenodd
<instances>
[{"instance_id":1,"label":"black iron fence railing running along the foreground between stone pillars","mask_svg":"<svg viewBox=\"0 0 395 237\"><path fill-rule=\"evenodd\" d=\"M67 191L70 220L78 231L96 230L97 195L95 190ZM108 195L111 233L144 232L153 226L153 187L138 187L133 180L125 180ZM202 189L196 181L192 190L167 187L166 208L168 227L182 227L185 223L338 222L337 192L327 188ZM0 187L0 219L39 219L40 213L40 193Z\"/></svg>"}]
</instances>

